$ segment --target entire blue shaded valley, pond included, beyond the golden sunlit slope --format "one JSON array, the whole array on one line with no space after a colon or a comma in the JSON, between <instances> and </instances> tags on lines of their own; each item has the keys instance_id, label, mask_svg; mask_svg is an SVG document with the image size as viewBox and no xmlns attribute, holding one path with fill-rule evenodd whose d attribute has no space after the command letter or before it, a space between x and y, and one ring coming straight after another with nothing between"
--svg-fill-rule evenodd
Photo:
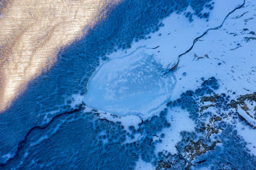
<instances>
[{"instance_id":1,"label":"entire blue shaded valley, pond included, beyond the golden sunlit slope","mask_svg":"<svg viewBox=\"0 0 256 170\"><path fill-rule=\"evenodd\" d=\"M0 169L255 169L255 17L121 1L0 114Z\"/></svg>"}]
</instances>

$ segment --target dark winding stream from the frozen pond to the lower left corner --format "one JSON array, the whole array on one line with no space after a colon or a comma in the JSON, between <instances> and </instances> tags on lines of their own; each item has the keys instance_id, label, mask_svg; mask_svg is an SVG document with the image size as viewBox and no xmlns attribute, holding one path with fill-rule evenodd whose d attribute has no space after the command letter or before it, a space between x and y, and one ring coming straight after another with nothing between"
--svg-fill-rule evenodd
<instances>
[{"instance_id":1,"label":"dark winding stream from the frozen pond to the lower left corner","mask_svg":"<svg viewBox=\"0 0 256 170\"><path fill-rule=\"evenodd\" d=\"M22 141L19 142L18 144L18 147L17 147L17 150L15 152L15 154L13 155L13 157L11 157L10 159L6 160L6 162L0 164L0 167L4 167L6 166L11 160L15 159L15 157L17 157L19 155L19 152L20 150L26 145L27 141L28 141L28 138L29 138L29 135L33 132L33 131L36 131L36 130L42 130L42 129L46 129L47 127L49 127L49 125L52 124L52 122L54 122L54 120L56 120L56 118L58 117L61 117L63 115L70 115L72 113L76 113L77 111L81 111L84 109L84 105L83 104L80 104L79 107L77 109L74 109L72 111L67 111L67 112L63 112L63 113L60 113L54 117L51 118L51 120L47 123L47 124L44 124L44 125L37 125L35 127L32 127L31 129L29 129L29 131L26 133L24 139Z\"/></svg>"}]
</instances>

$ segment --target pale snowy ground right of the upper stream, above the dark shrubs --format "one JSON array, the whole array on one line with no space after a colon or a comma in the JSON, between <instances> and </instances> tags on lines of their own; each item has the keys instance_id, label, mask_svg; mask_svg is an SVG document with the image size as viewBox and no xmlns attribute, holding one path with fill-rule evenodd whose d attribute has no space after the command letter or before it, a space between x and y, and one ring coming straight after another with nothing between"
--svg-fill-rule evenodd
<instances>
[{"instance_id":1,"label":"pale snowy ground right of the upper stream, above the dark shrubs","mask_svg":"<svg viewBox=\"0 0 256 170\"><path fill-rule=\"evenodd\" d=\"M256 41L246 40L246 37L255 37L249 34L255 30L255 4L246 1L245 6L232 13L221 29L209 31L189 53L180 57L175 77L181 79L173 90L173 98L179 97L182 91L198 87L200 78L209 76L221 81L218 93L228 92L236 97L255 92ZM184 72L186 76L182 76Z\"/></svg>"}]
</instances>

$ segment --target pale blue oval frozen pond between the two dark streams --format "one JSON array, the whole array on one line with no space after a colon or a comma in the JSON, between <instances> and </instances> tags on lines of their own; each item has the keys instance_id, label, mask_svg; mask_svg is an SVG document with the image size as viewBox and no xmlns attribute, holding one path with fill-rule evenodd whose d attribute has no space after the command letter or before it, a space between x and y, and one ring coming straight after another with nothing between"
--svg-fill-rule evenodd
<instances>
[{"instance_id":1,"label":"pale blue oval frozen pond between the two dark streams","mask_svg":"<svg viewBox=\"0 0 256 170\"><path fill-rule=\"evenodd\" d=\"M148 114L165 103L175 78L164 75L154 54L146 50L140 48L102 64L88 82L84 103L116 115Z\"/></svg>"}]
</instances>

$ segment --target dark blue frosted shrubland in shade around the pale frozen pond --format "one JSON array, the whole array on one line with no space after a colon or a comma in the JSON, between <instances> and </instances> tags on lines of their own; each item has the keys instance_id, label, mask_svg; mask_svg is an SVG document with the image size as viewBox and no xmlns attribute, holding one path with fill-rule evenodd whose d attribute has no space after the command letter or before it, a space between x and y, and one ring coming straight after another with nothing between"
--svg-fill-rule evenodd
<instances>
[{"instance_id":1,"label":"dark blue frosted shrubland in shade around the pale frozen pond","mask_svg":"<svg viewBox=\"0 0 256 170\"><path fill-rule=\"evenodd\" d=\"M58 115L63 111L66 113L65 111L71 110L72 100L69 101L69 96L86 94L87 82L99 65L99 56L105 56L106 53L111 53L117 48L129 48L133 39L137 41L146 39L146 34L159 29L158 24L161 18L170 15L173 11L182 13L189 4L195 11L193 16L191 13L185 14L191 24L196 16L207 20L209 18L207 13L214 6L209 1L201 0L124 1L109 15L106 22L97 25L95 30L81 41L62 50L56 66L31 82L28 90L13 103L12 108L0 115L0 153L2 155L0 160L4 162L15 155L14 159L7 164L1 164L3 165L1 168L134 169L136 162L140 160L140 162L148 162L150 167L151 165L156 167L161 161L173 162L172 169L184 169L189 163L193 163L195 168L203 169L207 167L209 169L254 169L255 155L248 152L246 142L236 132L236 125L230 125L228 122L216 123L217 128L223 129L220 134L214 136L222 141L222 144L216 145L216 150L203 153L201 157L196 157L194 162L189 162L189 158L184 159L186 157L184 147L188 145L189 140L196 141L205 136L201 131L202 123L209 117L216 117L215 114L218 113L207 111L201 114L200 104L198 104L200 97L214 95L219 87L223 88L220 81L214 77L211 78L213 75L210 73L204 75L207 81L202 83L201 77L196 74L198 73L196 68L192 71L197 77L191 76L191 69L182 70L182 76L179 78L190 76L192 80L180 85L180 88L186 86L186 90L182 94L177 94L177 99L170 99L168 108L141 120L140 123L137 121L136 125L132 124L128 129L122 122L101 118L103 113L99 115L97 111L79 110ZM205 4L207 8L204 8ZM203 10L207 12L204 13ZM245 17L248 16L245 15ZM207 62L200 65L207 66L205 63ZM217 69L211 70L217 71ZM200 73L203 71L200 70ZM195 79L200 86L197 89L191 83ZM187 90L190 88L191 90ZM227 110L227 98L223 95L216 99L218 109ZM169 152L168 147L163 148L163 152L156 153L156 147L161 145L165 137L172 138L172 135L178 135L163 134L164 129L172 128L172 121L167 115L173 108L179 108L179 114L182 114L182 110L186 112L190 121L195 122L196 128L179 134L182 139L177 143L178 153L172 152L172 149ZM236 113L232 114L234 117L237 116ZM43 121L45 115L49 115L46 118L49 124ZM56 115L58 116L54 117ZM51 119L52 117L54 119ZM230 119L232 120L232 117ZM116 118L116 120L119 119ZM123 121L125 121L124 117ZM237 119L234 119L234 122L236 121ZM42 125L42 122L46 125L33 129L26 136L29 129ZM125 122L125 126L128 124L129 122ZM167 132L172 133L172 131ZM24 136L26 136L26 142L18 146ZM204 138L203 142L211 145L214 138ZM15 153L16 150L18 152Z\"/></svg>"}]
</instances>

